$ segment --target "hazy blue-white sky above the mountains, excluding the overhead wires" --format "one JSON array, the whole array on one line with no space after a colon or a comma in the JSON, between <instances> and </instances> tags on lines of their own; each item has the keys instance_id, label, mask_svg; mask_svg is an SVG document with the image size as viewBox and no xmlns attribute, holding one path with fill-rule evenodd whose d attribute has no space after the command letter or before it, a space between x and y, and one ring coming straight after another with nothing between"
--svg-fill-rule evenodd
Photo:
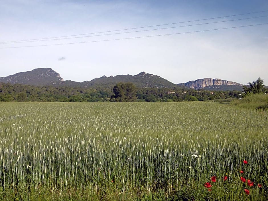
<instances>
[{"instance_id":1,"label":"hazy blue-white sky above the mountains, excluding the overhead wires","mask_svg":"<svg viewBox=\"0 0 268 201\"><path fill-rule=\"evenodd\" d=\"M199 78L247 84L261 77L268 85L267 24L184 33L268 23L268 17L93 36L268 16L267 11L131 29L265 10L268 10L267 0L0 0L0 77L34 68L52 68L64 80L78 82L145 71L175 84ZM119 29L131 30L87 34ZM113 40L171 33L184 34ZM90 37L3 43L78 34ZM89 42L100 40L111 41ZM76 42L87 43L38 46ZM5 48L19 46L37 47Z\"/></svg>"}]
</instances>

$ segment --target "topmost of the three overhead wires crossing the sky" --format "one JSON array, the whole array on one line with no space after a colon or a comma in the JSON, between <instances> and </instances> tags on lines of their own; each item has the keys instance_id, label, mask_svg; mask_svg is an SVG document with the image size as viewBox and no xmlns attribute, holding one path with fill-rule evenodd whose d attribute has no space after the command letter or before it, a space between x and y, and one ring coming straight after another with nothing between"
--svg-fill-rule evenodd
<instances>
[{"instance_id":1,"label":"topmost of the three overhead wires crossing the sky","mask_svg":"<svg viewBox=\"0 0 268 201\"><path fill-rule=\"evenodd\" d=\"M102 32L95 32L95 33L86 33L86 34L76 34L76 35L68 35L68 36L57 36L57 37L48 37L48 38L36 38L36 39L28 39L28 40L13 40L13 41L6 41L6 42L0 42L0 43L11 43L11 42L21 42L21 41L30 41L30 40L42 40L42 39L50 39L50 38L63 38L63 37L71 37L71 36L82 36L82 35L90 35L90 34L100 34L100 33L107 33L107 32L115 32L115 31L126 31L126 30L133 30L133 29L142 29L142 28L149 28L149 27L158 27L158 26L165 26L165 25L174 25L174 24L180 24L180 23L189 23L189 22L197 22L197 21L203 21L203 20L211 20L211 19L219 19L224 17L234 17L239 15L249 15L254 13L264 13L265 11L257 11L257 12L251 12L251 13L242 13L237 15L226 15L222 17L213 17L213 18L206 18L206 19L199 19L199 20L191 20L191 21L184 21L184 22L176 22L176 23L169 23L169 24L161 24L161 25L152 25L152 26L146 26L146 27L136 27L136 28L129 28L129 29L118 29L118 30L111 30L111 31L102 31Z\"/></svg>"}]
</instances>

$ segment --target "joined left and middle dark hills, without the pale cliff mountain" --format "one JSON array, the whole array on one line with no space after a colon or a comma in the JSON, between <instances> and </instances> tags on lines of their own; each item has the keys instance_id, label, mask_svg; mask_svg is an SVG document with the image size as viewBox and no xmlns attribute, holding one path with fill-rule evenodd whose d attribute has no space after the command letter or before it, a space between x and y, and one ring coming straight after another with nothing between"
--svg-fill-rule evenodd
<instances>
[{"instance_id":1,"label":"joined left and middle dark hills, without the pale cliff mountain","mask_svg":"<svg viewBox=\"0 0 268 201\"><path fill-rule=\"evenodd\" d=\"M133 82L141 88L174 88L176 84L161 78L160 76L141 72L137 75L117 75L102 76L91 81L74 82L71 80L64 81L60 74L51 68L36 68L32 71L19 72L7 77L1 77L0 82L10 82L12 84L26 84L34 86L68 86L68 87L93 87L93 88L113 88L118 82Z\"/></svg>"}]
</instances>

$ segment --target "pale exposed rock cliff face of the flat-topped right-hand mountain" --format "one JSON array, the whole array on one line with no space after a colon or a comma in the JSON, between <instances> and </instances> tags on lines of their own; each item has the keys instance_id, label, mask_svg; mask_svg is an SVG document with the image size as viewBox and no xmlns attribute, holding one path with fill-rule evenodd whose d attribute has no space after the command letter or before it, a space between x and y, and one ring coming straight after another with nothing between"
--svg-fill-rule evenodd
<instances>
[{"instance_id":1,"label":"pale exposed rock cliff face of the flat-topped right-hand mountain","mask_svg":"<svg viewBox=\"0 0 268 201\"><path fill-rule=\"evenodd\" d=\"M221 80L221 79L217 79L217 78L216 79L212 79L212 78L198 79L198 80L193 80L193 81L189 81L186 83L180 83L177 85L186 86L186 87L191 88L191 89L202 89L202 88L208 87L208 86L220 86L220 85L244 86L243 84L239 84L237 82Z\"/></svg>"}]
</instances>

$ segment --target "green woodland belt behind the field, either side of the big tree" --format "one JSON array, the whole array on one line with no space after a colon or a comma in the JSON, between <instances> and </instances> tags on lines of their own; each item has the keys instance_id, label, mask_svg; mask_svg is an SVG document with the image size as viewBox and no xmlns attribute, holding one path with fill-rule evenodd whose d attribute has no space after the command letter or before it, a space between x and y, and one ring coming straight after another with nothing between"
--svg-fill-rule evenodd
<instances>
[{"instance_id":1,"label":"green woodland belt behind the field, either side of the big tree","mask_svg":"<svg viewBox=\"0 0 268 201\"><path fill-rule=\"evenodd\" d=\"M137 88L135 101L168 102L241 98L239 91L207 91L189 88ZM0 83L0 101L109 102L113 88L30 86Z\"/></svg>"}]
</instances>

